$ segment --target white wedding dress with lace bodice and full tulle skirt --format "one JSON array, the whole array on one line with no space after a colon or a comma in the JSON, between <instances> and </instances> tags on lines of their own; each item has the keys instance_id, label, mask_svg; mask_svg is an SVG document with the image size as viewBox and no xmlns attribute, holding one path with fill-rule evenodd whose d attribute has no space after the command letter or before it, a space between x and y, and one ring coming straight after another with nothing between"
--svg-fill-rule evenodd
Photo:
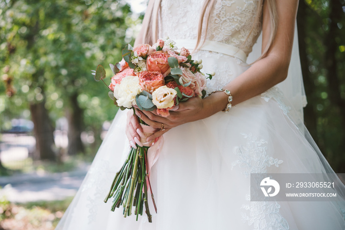
<instances>
[{"instance_id":1,"label":"white wedding dress with lace bodice and full tulle skirt","mask_svg":"<svg viewBox=\"0 0 345 230\"><path fill-rule=\"evenodd\" d=\"M179 48L193 48L201 5L198 0L162 0L159 36L176 40ZM261 32L258 23L246 39L257 5L256 0L216 1L207 31L210 42L193 54L203 60L205 72L216 73L207 92L249 68L245 58ZM229 113L165 133L150 176L158 208L157 214L150 208L153 223L145 214L138 222L134 215L124 218L122 209L110 211L112 199L103 202L129 152L127 111L119 111L57 230L344 230L341 197L339 202L250 201L250 173L333 172L290 99L274 87Z\"/></svg>"}]
</instances>

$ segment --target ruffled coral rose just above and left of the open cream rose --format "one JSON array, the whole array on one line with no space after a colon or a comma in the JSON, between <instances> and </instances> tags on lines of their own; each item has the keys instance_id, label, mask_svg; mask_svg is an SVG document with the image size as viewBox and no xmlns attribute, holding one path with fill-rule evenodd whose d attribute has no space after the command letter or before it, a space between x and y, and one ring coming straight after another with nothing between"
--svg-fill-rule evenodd
<instances>
[{"instance_id":1,"label":"ruffled coral rose just above and left of the open cream rose","mask_svg":"<svg viewBox=\"0 0 345 230\"><path fill-rule=\"evenodd\" d=\"M142 71L139 74L139 84L143 90L152 94L154 90L164 85L164 77L158 71Z\"/></svg>"}]
</instances>

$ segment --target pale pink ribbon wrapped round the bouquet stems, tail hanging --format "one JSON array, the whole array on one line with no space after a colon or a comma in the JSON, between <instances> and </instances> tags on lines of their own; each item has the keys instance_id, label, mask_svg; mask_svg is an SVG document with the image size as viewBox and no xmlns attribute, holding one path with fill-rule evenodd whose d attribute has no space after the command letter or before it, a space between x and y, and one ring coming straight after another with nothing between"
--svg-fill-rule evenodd
<instances>
[{"instance_id":1,"label":"pale pink ribbon wrapped round the bouquet stems, tail hanging","mask_svg":"<svg viewBox=\"0 0 345 230\"><path fill-rule=\"evenodd\" d=\"M158 160L159 153L163 147L164 139L163 136L157 137L154 141L149 143L146 142L146 138L151 136L158 130L151 126L140 124L142 127L143 137L140 136L140 142L143 146L150 147L147 150L147 172L150 173L150 169ZM153 145L152 145L153 144Z\"/></svg>"}]
</instances>

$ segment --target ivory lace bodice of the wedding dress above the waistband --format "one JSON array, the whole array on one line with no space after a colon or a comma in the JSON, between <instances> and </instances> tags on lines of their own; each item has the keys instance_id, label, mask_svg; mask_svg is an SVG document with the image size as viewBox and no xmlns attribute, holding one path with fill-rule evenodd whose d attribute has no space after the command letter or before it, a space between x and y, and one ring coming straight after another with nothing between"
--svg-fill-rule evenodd
<instances>
[{"instance_id":1,"label":"ivory lace bodice of the wedding dress above the waistband","mask_svg":"<svg viewBox=\"0 0 345 230\"><path fill-rule=\"evenodd\" d=\"M216 0L206 39L233 45L248 55L261 32L257 22L250 33L258 4L258 0ZM162 0L159 37L196 39L202 5L199 0Z\"/></svg>"}]
</instances>

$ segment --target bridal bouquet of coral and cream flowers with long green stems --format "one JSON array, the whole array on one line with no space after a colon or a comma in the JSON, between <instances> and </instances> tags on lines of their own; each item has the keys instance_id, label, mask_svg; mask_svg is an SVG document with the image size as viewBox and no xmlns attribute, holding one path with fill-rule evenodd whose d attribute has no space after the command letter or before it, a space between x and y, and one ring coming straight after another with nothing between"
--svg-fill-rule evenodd
<instances>
[{"instance_id":1,"label":"bridal bouquet of coral and cream flowers with long green stems","mask_svg":"<svg viewBox=\"0 0 345 230\"><path fill-rule=\"evenodd\" d=\"M95 80L102 80L107 85L111 91L109 97L121 110L134 107L145 111L156 110L157 114L166 117L180 102L192 97L204 98L207 78L211 79L214 75L200 72L202 60L192 60L189 50L184 47L178 52L175 42L169 38L158 39L152 46L140 44L133 48L127 44L122 50L122 57L116 65L109 64L114 73L110 85L103 80L105 70L102 65L93 71ZM145 132L146 124L140 118L138 120L146 137L156 131ZM137 149L130 150L104 202L113 197L111 210L122 205L124 217L131 215L132 207L135 207L137 220L145 205L148 221L152 222L147 192L149 188L157 212L148 176L152 165L148 165L147 153L152 143L145 143L145 137L140 139L143 147L137 145Z\"/></svg>"}]
</instances>

